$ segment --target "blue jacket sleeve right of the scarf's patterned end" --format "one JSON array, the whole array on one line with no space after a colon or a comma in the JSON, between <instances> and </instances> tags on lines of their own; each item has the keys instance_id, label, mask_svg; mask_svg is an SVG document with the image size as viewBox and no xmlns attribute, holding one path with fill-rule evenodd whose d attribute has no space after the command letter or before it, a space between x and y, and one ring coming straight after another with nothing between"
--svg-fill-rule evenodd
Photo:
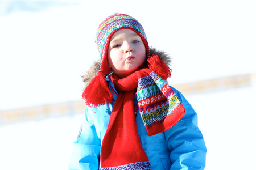
<instances>
[{"instance_id":1,"label":"blue jacket sleeve right of the scarf's patterned end","mask_svg":"<svg viewBox=\"0 0 256 170\"><path fill-rule=\"evenodd\" d=\"M183 103L186 114L164 132L167 147L171 151L171 170L204 169L207 149L203 135L197 127L197 114L184 96L175 88L172 89Z\"/></svg>"}]
</instances>

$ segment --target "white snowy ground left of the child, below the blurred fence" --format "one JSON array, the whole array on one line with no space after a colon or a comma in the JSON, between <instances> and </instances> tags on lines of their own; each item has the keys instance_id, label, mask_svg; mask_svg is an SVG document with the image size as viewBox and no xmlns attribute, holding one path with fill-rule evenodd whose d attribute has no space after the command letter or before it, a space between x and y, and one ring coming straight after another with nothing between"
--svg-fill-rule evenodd
<instances>
[{"instance_id":1,"label":"white snowy ground left of the child, below the blurred fence","mask_svg":"<svg viewBox=\"0 0 256 170\"><path fill-rule=\"evenodd\" d=\"M0 126L0 169L68 169L82 116Z\"/></svg>"}]
</instances>

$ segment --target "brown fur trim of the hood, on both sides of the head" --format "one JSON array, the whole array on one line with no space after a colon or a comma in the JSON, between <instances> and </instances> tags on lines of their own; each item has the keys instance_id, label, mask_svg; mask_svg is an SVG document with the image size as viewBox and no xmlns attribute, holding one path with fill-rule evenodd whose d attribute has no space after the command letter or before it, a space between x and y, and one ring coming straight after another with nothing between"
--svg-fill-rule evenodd
<instances>
[{"instance_id":1,"label":"brown fur trim of the hood, on both sides of the head","mask_svg":"<svg viewBox=\"0 0 256 170\"><path fill-rule=\"evenodd\" d=\"M163 51L157 50L155 48L150 48L150 56L153 54L158 55L159 59L161 59L166 65L171 65L171 57ZM88 86L90 81L97 76L98 71L101 70L101 59L98 61L94 61L93 65L90 66L90 69L85 73L85 75L82 75L82 80L85 83L84 89Z\"/></svg>"}]
</instances>

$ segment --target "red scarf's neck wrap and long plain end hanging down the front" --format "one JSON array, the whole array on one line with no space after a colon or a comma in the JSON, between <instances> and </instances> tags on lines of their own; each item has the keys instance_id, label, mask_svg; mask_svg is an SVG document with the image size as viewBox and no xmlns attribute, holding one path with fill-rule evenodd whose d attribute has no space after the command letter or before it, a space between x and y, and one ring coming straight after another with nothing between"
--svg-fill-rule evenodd
<instances>
[{"instance_id":1,"label":"red scarf's neck wrap and long plain end hanging down the front","mask_svg":"<svg viewBox=\"0 0 256 170\"><path fill-rule=\"evenodd\" d=\"M102 141L101 169L109 169L109 167L133 169L134 166L151 169L139 141L134 113L134 95L138 79L143 76L148 74L144 71L136 71L123 79L119 79L114 73L111 76L119 94Z\"/></svg>"}]
</instances>

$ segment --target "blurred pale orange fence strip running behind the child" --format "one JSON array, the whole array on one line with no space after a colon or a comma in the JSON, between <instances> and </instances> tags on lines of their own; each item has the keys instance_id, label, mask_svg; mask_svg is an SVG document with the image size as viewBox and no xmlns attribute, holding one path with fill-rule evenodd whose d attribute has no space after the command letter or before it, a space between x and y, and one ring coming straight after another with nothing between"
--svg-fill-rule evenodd
<instances>
[{"instance_id":1,"label":"blurred pale orange fence strip running behind the child","mask_svg":"<svg viewBox=\"0 0 256 170\"><path fill-rule=\"evenodd\" d=\"M174 87L184 95L195 95L205 92L229 90L232 88L250 87L255 83L255 79L256 74L245 74L204 80L200 82L176 84ZM47 104L39 105L37 107L0 111L0 126L12 124L15 122L41 120L42 118L48 117L82 114L84 113L85 107L85 102L83 100L79 100L59 104Z\"/></svg>"}]
</instances>

